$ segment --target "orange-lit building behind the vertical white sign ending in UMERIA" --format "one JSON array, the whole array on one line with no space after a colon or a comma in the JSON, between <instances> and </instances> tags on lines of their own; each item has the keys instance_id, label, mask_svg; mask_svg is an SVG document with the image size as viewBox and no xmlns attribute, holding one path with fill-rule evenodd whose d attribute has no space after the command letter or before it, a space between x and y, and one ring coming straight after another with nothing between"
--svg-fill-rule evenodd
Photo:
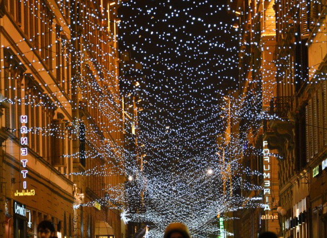
<instances>
[{"instance_id":1,"label":"orange-lit building behind the vertical white sign ending in UMERIA","mask_svg":"<svg viewBox=\"0 0 327 238\"><path fill-rule=\"evenodd\" d=\"M263 231L279 232L277 207L278 159L274 148L268 147L266 134L270 102L276 96L276 66L273 61L276 47L274 1L229 1L229 11L236 16L233 26L239 32L239 92L238 143L243 168L260 172L244 174L243 184L261 186L262 189L245 189L243 197L261 198L261 206L247 208L244 204L238 216L242 230L240 237L258 237Z\"/></svg>"}]
</instances>

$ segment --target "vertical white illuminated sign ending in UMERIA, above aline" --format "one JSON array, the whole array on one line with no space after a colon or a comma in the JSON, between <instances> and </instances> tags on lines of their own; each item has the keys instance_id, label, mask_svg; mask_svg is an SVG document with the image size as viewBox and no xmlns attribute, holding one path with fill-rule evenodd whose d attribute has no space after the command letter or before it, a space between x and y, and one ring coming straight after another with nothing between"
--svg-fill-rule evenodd
<instances>
[{"instance_id":1,"label":"vertical white illuminated sign ending in UMERIA, above aline","mask_svg":"<svg viewBox=\"0 0 327 238\"><path fill-rule=\"evenodd\" d=\"M271 173L271 161L270 161L270 150L267 148L268 142L263 141L263 154L264 154L264 210L270 211L269 197L271 196L271 184L270 184L270 173Z\"/></svg>"}]
</instances>

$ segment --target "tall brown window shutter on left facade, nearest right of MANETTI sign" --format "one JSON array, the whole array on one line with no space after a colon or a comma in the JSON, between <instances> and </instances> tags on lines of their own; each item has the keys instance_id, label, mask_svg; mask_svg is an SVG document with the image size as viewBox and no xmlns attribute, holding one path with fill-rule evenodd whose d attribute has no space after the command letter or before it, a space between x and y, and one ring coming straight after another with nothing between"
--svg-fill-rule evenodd
<instances>
[{"instance_id":1,"label":"tall brown window shutter on left facade, nearest right of MANETTI sign","mask_svg":"<svg viewBox=\"0 0 327 238\"><path fill-rule=\"evenodd\" d=\"M62 131L61 131L61 120L52 121L52 156L53 166L62 167L64 166L63 157L63 146L62 146Z\"/></svg>"}]
</instances>

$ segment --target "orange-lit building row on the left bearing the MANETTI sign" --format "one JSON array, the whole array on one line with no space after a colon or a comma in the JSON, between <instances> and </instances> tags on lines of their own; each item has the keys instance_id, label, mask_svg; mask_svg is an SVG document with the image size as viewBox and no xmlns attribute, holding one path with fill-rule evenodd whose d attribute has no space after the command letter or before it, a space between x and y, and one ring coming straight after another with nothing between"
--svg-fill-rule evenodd
<instances>
[{"instance_id":1,"label":"orange-lit building row on the left bearing the MANETTI sign","mask_svg":"<svg viewBox=\"0 0 327 238\"><path fill-rule=\"evenodd\" d=\"M105 191L124 181L117 9L0 2L0 237L36 237L42 220L59 238L125 237Z\"/></svg>"}]
</instances>

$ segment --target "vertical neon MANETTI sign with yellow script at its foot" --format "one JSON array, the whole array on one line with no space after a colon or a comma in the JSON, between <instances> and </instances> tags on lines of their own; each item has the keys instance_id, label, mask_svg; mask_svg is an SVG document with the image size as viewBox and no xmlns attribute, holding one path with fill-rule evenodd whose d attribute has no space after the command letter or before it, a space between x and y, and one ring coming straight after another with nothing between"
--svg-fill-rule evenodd
<instances>
[{"instance_id":1,"label":"vertical neon MANETTI sign with yellow script at its foot","mask_svg":"<svg viewBox=\"0 0 327 238\"><path fill-rule=\"evenodd\" d=\"M35 195L35 191L34 189L32 190L28 190L27 189L27 174L28 174L28 170L27 170L27 163L28 163L28 159L27 159L27 155L28 155L28 137L26 136L28 133L28 128L26 126L26 124L28 123L28 116L27 115L21 115L20 116L20 123L21 123L21 127L20 127L20 156L22 159L20 159L20 163L21 163L21 167L22 169L20 170L20 174L22 176L22 190L21 191L16 191L15 196L34 196Z\"/></svg>"}]
</instances>

